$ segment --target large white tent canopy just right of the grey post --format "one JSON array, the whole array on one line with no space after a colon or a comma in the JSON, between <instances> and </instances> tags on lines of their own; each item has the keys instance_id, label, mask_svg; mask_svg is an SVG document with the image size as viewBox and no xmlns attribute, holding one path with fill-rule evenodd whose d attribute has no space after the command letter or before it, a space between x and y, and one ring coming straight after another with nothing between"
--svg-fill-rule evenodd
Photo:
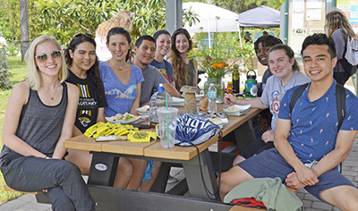
<instances>
[{"instance_id":1,"label":"large white tent canopy just right of the grey post","mask_svg":"<svg viewBox=\"0 0 358 211\"><path fill-rule=\"evenodd\" d=\"M189 26L185 22L184 28L192 33L198 32L225 32L225 31L239 31L239 21L237 13L233 13L213 4L204 4L200 2L183 3L183 9L189 10L198 14L200 22ZM219 20L216 19L219 17ZM202 30L200 28L202 27Z\"/></svg>"}]
</instances>

